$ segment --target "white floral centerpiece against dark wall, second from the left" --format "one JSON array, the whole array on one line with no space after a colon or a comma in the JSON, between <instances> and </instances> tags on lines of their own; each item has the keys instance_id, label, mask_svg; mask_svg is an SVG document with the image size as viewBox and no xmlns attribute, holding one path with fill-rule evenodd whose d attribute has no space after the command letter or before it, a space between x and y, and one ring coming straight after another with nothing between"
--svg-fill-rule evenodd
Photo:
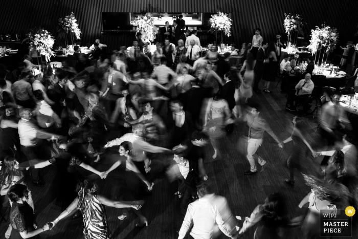
<instances>
[{"instance_id":1,"label":"white floral centerpiece against dark wall, second from the left","mask_svg":"<svg viewBox=\"0 0 358 239\"><path fill-rule=\"evenodd\" d=\"M77 19L73 12L58 19L57 31L59 39L64 39L66 48L68 46L67 34L70 34L72 45L74 44L74 36L76 36L76 39L81 39L81 30L78 28Z\"/></svg>"}]
</instances>

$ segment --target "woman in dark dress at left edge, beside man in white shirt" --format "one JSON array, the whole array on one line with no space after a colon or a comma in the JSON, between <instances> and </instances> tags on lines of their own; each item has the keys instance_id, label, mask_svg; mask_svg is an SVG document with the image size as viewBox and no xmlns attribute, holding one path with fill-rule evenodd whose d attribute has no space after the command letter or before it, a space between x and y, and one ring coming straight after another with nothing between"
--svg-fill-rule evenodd
<instances>
[{"instance_id":1,"label":"woman in dark dress at left edge, beside man in white shirt","mask_svg":"<svg viewBox=\"0 0 358 239\"><path fill-rule=\"evenodd\" d=\"M12 108L0 107L0 159L14 155L16 146L16 159L20 159L20 139L17 133L17 120L11 117Z\"/></svg>"}]
</instances>

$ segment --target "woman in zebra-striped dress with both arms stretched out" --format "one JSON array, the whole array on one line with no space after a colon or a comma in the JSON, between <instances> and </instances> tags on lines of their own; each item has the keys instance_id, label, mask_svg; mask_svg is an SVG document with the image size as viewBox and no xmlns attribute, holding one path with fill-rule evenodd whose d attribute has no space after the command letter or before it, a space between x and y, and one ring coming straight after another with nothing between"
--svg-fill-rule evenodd
<instances>
[{"instance_id":1,"label":"woman in zebra-striped dress with both arms stretched out","mask_svg":"<svg viewBox=\"0 0 358 239\"><path fill-rule=\"evenodd\" d=\"M97 194L98 186L94 181L84 180L77 185L78 196L71 205L64 210L54 221L54 226L74 209L79 208L82 212L84 223L83 234L85 239L110 239L112 238L108 228L106 205L108 207L130 207L140 209L143 201L113 201Z\"/></svg>"}]
</instances>

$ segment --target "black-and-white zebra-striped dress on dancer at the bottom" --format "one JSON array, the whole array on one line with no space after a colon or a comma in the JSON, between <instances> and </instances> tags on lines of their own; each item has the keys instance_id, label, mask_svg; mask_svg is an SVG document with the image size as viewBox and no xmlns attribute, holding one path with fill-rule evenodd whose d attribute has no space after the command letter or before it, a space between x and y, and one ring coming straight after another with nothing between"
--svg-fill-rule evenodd
<instances>
[{"instance_id":1,"label":"black-and-white zebra-striped dress on dancer at the bottom","mask_svg":"<svg viewBox=\"0 0 358 239\"><path fill-rule=\"evenodd\" d=\"M97 195L94 195L91 199L85 199L80 209L83 215L85 239L112 238L108 229L105 208L98 201Z\"/></svg>"}]
</instances>

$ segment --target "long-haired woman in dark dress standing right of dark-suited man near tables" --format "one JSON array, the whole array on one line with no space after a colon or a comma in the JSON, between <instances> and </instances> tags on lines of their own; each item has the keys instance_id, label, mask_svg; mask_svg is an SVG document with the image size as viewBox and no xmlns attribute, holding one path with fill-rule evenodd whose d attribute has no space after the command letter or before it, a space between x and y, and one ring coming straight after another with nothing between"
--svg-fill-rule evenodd
<instances>
[{"instance_id":1,"label":"long-haired woman in dark dress standing right of dark-suited man near tables","mask_svg":"<svg viewBox=\"0 0 358 239\"><path fill-rule=\"evenodd\" d=\"M276 43L271 41L266 52L267 58L270 59L269 64L265 64L263 79L265 84L262 91L265 93L271 93L269 90L271 81L275 81L277 72L277 57L276 57Z\"/></svg>"}]
</instances>

